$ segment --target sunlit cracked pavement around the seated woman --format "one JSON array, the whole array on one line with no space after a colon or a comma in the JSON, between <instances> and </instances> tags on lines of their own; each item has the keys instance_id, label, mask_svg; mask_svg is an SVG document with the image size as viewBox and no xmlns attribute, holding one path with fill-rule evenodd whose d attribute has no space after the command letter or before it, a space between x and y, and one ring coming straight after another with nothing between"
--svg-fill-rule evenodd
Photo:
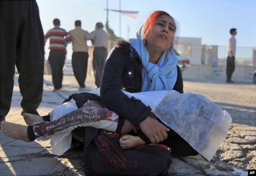
<instances>
[{"instance_id":1,"label":"sunlit cracked pavement around the seated woman","mask_svg":"<svg viewBox=\"0 0 256 176\"><path fill-rule=\"evenodd\" d=\"M6 121L26 124L20 115L21 95L18 75L15 75L13 100ZM37 111L47 115L72 93L78 93L74 76L65 75L63 89L52 92L52 78L45 75L43 100ZM96 88L94 76L88 75L87 91ZM191 81L184 78L184 92L202 94L232 116L228 137L211 161L200 155L174 158L169 174L173 176L247 176L256 169L256 85L211 81ZM67 151L62 156L51 153L50 140L23 141L6 137L0 130L0 176L71 176L84 175L83 151Z\"/></svg>"}]
</instances>

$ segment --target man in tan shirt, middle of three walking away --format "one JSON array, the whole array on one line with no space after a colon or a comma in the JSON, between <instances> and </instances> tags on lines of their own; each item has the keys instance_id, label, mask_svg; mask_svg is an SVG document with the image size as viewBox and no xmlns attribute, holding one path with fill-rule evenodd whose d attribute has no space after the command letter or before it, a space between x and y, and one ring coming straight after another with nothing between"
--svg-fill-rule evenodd
<instances>
[{"instance_id":1,"label":"man in tan shirt, middle of three walking away","mask_svg":"<svg viewBox=\"0 0 256 176\"><path fill-rule=\"evenodd\" d=\"M85 91L85 79L87 74L88 65L88 46L86 43L85 35L87 31L81 28L81 21L75 21L75 29L69 31L72 39L73 54L72 54L72 67L74 76L79 83L79 91Z\"/></svg>"}]
</instances>

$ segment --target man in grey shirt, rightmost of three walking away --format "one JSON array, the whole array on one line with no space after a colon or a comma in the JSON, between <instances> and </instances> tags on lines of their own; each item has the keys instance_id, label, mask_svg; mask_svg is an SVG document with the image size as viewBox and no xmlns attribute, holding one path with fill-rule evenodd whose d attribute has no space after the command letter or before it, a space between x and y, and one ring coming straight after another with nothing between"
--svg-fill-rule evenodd
<instances>
[{"instance_id":1,"label":"man in grey shirt, rightmost of three walking away","mask_svg":"<svg viewBox=\"0 0 256 176\"><path fill-rule=\"evenodd\" d=\"M86 35L86 39L91 39L94 45L93 50L93 70L95 76L95 84L100 87L102 72L104 69L105 61L108 57L108 33L103 30L103 24L97 22L95 30Z\"/></svg>"}]
</instances>

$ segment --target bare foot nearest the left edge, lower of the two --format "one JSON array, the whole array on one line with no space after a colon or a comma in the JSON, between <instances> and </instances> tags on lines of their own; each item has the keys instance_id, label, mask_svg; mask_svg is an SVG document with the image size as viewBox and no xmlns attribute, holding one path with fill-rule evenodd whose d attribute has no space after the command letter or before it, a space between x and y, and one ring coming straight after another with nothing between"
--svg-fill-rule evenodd
<instances>
[{"instance_id":1,"label":"bare foot nearest the left edge, lower of the two","mask_svg":"<svg viewBox=\"0 0 256 176\"><path fill-rule=\"evenodd\" d=\"M26 125L2 121L1 130L4 132L4 135L13 139L19 139L27 143L31 142L28 139L28 126Z\"/></svg>"}]
</instances>

